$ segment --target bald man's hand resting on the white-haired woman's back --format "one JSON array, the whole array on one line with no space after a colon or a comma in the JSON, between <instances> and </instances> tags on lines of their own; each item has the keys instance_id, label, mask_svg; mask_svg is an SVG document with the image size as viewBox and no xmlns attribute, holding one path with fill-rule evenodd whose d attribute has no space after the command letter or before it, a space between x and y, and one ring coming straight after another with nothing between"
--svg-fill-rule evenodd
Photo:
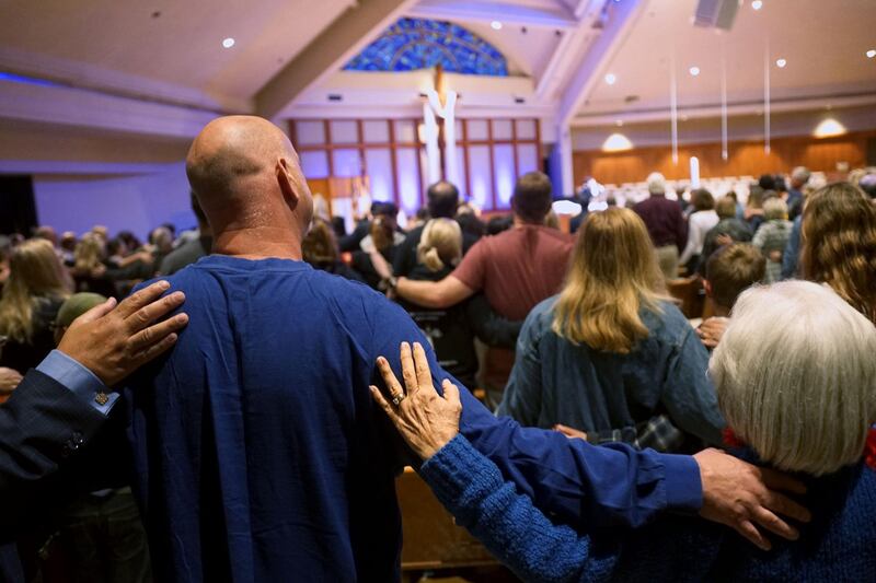
<instances>
[{"instance_id":1,"label":"bald man's hand resting on the white-haired woman's back","mask_svg":"<svg viewBox=\"0 0 876 583\"><path fill-rule=\"evenodd\" d=\"M734 528L763 550L770 540L758 530L759 525L788 540L799 533L779 514L809 522L809 511L786 495L773 490L802 494L806 487L784 474L747 464L718 450L694 455L703 482L703 508L700 515Z\"/></svg>"}]
</instances>

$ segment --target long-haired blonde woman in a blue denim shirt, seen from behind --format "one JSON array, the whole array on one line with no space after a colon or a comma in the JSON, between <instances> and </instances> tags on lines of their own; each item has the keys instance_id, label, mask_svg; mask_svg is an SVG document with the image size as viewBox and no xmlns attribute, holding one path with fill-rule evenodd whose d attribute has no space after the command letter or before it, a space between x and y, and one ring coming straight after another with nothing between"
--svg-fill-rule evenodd
<instances>
[{"instance_id":1,"label":"long-haired blonde woman in a blue denim shirt, seen from behind","mask_svg":"<svg viewBox=\"0 0 876 583\"><path fill-rule=\"evenodd\" d=\"M527 317L497 412L641 445L649 420L668 416L688 436L716 444L724 419L707 363L695 331L662 295L645 223L613 208L588 215L563 290ZM682 439L648 445L676 451Z\"/></svg>"}]
</instances>

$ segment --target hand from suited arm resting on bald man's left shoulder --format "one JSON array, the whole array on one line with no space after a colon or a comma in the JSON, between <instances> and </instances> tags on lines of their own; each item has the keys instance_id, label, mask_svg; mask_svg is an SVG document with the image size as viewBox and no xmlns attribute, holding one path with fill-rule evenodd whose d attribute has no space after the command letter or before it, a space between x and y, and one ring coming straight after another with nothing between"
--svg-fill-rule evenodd
<instances>
[{"instance_id":1,"label":"hand from suited arm resting on bald man's left shoulder","mask_svg":"<svg viewBox=\"0 0 876 583\"><path fill-rule=\"evenodd\" d=\"M117 307L110 299L89 310L73 320L58 350L89 369L106 386L116 385L169 350L176 342L176 331L188 323L188 316L181 313L153 324L185 301L178 291L161 298L168 289L170 283L158 281Z\"/></svg>"}]
</instances>

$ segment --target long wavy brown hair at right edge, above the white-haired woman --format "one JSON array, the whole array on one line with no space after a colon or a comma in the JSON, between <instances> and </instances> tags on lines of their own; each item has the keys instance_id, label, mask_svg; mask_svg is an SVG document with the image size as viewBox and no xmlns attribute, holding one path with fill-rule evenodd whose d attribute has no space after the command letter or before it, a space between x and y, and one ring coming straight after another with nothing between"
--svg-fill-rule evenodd
<instances>
[{"instance_id":1,"label":"long wavy brown hair at right edge, above the white-haired woman","mask_svg":"<svg viewBox=\"0 0 876 583\"><path fill-rule=\"evenodd\" d=\"M833 288L876 323L876 207L860 188L833 183L803 207L803 276Z\"/></svg>"}]
</instances>

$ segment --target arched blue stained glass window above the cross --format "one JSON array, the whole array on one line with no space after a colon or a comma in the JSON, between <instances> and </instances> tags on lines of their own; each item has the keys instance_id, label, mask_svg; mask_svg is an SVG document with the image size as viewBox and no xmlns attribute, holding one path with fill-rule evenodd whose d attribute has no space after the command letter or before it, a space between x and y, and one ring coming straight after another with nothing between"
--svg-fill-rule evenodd
<instances>
[{"instance_id":1,"label":"arched blue stained glass window above the cross","mask_svg":"<svg viewBox=\"0 0 876 583\"><path fill-rule=\"evenodd\" d=\"M400 19L344 69L416 71L437 65L451 73L508 77L496 47L462 26L425 19Z\"/></svg>"}]
</instances>

